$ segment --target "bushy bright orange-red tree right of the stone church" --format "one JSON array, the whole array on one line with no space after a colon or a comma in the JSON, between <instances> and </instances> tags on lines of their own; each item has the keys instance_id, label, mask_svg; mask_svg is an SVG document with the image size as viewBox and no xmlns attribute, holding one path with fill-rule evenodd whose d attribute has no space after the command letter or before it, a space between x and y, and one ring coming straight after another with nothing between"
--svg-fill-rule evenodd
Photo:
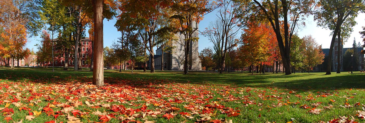
<instances>
[{"instance_id":1,"label":"bushy bright orange-red tree right of the stone church","mask_svg":"<svg viewBox=\"0 0 365 123\"><path fill-rule=\"evenodd\" d=\"M272 29L268 28L265 23L249 23L248 28L244 29L242 35L242 45L239 47L238 57L241 57L241 62L247 62L251 65L253 74L253 66L261 70L265 65L272 65L274 53L276 52L276 36ZM264 71L262 71L264 72Z\"/></svg>"}]
</instances>

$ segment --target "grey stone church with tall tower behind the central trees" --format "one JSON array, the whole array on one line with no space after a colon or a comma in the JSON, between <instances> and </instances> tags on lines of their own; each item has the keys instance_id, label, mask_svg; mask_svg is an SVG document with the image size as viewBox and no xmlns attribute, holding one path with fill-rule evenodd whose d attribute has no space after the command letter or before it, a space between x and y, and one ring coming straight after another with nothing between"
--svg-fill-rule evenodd
<instances>
[{"instance_id":1,"label":"grey stone church with tall tower behind the central trees","mask_svg":"<svg viewBox=\"0 0 365 123\"><path fill-rule=\"evenodd\" d=\"M192 25L192 28L198 28L198 24L195 23ZM154 66L155 70L161 70L162 63L161 63L161 56L164 55L164 70L184 70L184 46L180 43L184 41L184 35L176 34L175 35L179 40L175 41L172 46L175 46L171 53L162 52L161 47L156 49L156 54L154 55ZM199 32L195 31L193 33L194 37L199 36ZM192 41L190 43L190 52L189 52L189 70L201 70L201 63L199 59L199 52L198 52L198 41ZM147 68L150 67L151 59L149 59L147 63Z\"/></svg>"}]
</instances>

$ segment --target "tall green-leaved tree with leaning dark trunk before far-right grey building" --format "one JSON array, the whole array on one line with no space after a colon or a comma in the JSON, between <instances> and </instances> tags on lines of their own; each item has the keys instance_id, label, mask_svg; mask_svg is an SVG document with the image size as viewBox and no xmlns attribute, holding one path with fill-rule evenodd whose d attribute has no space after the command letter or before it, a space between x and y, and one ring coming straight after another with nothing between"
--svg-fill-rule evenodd
<instances>
[{"instance_id":1,"label":"tall green-leaved tree with leaning dark trunk before far-right grey building","mask_svg":"<svg viewBox=\"0 0 365 123\"><path fill-rule=\"evenodd\" d=\"M333 31L326 71L326 75L330 75L335 39L338 36L338 39L341 40L341 30L349 29L353 26L358 12L364 11L365 3L363 0L320 0L318 4L320 9L315 15L315 20L318 21L317 24ZM343 28L344 26L345 28ZM338 44L340 42L338 41ZM339 73L339 67L337 70L337 73Z\"/></svg>"}]
</instances>

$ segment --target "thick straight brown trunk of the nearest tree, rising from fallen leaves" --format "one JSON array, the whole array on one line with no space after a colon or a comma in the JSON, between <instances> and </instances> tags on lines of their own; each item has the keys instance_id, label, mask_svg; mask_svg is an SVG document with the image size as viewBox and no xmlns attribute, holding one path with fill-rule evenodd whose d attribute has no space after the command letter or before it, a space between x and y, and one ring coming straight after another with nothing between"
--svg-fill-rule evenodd
<instances>
[{"instance_id":1,"label":"thick straight brown trunk of the nearest tree, rising from fallen leaves","mask_svg":"<svg viewBox=\"0 0 365 123\"><path fill-rule=\"evenodd\" d=\"M96 86L104 86L103 3L104 0L93 0L95 52L92 82Z\"/></svg>"}]
</instances>

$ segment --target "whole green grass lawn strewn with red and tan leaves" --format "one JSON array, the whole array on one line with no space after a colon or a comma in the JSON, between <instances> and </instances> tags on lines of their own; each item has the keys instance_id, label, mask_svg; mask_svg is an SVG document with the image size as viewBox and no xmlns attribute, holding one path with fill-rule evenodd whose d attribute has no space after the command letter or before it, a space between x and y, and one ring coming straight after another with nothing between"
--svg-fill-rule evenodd
<instances>
[{"instance_id":1,"label":"whole green grass lawn strewn with red and tan leaves","mask_svg":"<svg viewBox=\"0 0 365 123\"><path fill-rule=\"evenodd\" d=\"M360 72L184 75L105 70L104 87L91 84L88 70L0 68L0 73L4 123L365 122L365 73ZM30 115L34 119L28 120Z\"/></svg>"}]
</instances>

